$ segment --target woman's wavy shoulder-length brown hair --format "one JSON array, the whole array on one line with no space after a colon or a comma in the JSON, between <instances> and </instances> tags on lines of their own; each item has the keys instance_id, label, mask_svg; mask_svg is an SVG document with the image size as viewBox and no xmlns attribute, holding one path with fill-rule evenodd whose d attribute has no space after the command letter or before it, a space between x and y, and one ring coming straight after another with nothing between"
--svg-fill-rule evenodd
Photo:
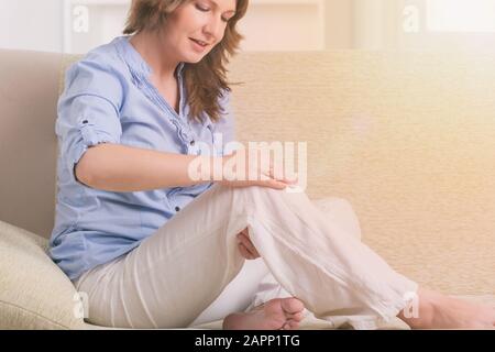
<instances>
[{"instance_id":1,"label":"woman's wavy shoulder-length brown hair","mask_svg":"<svg viewBox=\"0 0 495 352\"><path fill-rule=\"evenodd\" d=\"M133 0L123 33L155 31L164 25L172 12L188 1L191 0ZM199 63L186 63L184 66L191 119L201 121L202 112L208 113L213 122L220 119L222 111L219 99L222 98L223 91L231 90L226 66L229 55L237 54L239 43L243 38L235 25L244 16L248 2L249 0L237 0L235 14L229 20L222 41Z\"/></svg>"}]
</instances>

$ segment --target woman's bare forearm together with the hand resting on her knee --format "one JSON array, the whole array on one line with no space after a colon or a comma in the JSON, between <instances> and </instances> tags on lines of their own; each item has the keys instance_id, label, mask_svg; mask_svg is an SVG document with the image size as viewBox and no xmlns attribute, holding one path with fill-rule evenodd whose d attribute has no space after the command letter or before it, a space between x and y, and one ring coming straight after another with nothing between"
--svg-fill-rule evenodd
<instances>
[{"instance_id":1,"label":"woman's bare forearm together with the hand resting on her knee","mask_svg":"<svg viewBox=\"0 0 495 352\"><path fill-rule=\"evenodd\" d=\"M258 152L256 151L256 153ZM219 173L215 173L216 165L223 167L230 158L237 158L239 154L243 154L242 160L246 163L235 164L235 172L240 172L240 175L254 175L254 179L238 179L235 177L235 179L232 179L232 177L224 177L221 170L219 178ZM198 157L202 158L202 163L199 164L209 165L200 180L194 179L189 174L189 164ZM271 160L268 168L262 168L257 164L251 165L248 162L249 160L249 151L246 150L234 151L233 154L223 157L215 157L172 154L102 143L86 151L75 166L75 175L80 183L91 188L122 193L187 187L210 182L219 182L232 187L262 186L284 189L297 182L297 179L277 178L273 174L273 160ZM201 173L202 170L198 172ZM262 175L264 177L261 177ZM193 176L196 177L196 175Z\"/></svg>"}]
</instances>

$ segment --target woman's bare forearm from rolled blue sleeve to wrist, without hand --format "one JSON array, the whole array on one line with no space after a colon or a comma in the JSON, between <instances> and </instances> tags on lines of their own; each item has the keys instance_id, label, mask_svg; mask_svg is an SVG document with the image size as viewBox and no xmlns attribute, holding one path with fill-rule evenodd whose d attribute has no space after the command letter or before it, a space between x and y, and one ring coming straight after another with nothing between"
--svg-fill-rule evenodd
<instances>
[{"instance_id":1,"label":"woman's bare forearm from rolled blue sleeve to wrist, without hand","mask_svg":"<svg viewBox=\"0 0 495 352\"><path fill-rule=\"evenodd\" d=\"M75 166L75 175L80 183L91 188L121 193L211 182L198 182L189 177L189 163L196 157L102 143L86 151Z\"/></svg>"}]
</instances>

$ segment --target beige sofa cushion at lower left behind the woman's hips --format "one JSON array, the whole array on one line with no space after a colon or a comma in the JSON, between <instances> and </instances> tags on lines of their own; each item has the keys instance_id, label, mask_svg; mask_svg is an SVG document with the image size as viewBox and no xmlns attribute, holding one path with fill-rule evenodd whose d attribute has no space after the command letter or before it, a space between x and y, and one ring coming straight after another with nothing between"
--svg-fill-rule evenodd
<instances>
[{"instance_id":1,"label":"beige sofa cushion at lower left behind the woman's hips","mask_svg":"<svg viewBox=\"0 0 495 352\"><path fill-rule=\"evenodd\" d=\"M0 221L0 329L85 329L76 290L47 241Z\"/></svg>"}]
</instances>

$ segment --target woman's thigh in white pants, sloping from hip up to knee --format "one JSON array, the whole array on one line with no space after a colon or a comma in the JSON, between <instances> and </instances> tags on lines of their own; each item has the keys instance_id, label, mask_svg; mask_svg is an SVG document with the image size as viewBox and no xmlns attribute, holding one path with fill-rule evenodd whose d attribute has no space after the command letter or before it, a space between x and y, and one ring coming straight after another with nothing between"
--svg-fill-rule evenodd
<instances>
[{"instance_id":1,"label":"woman's thigh in white pants, sloping from hip up to knee","mask_svg":"<svg viewBox=\"0 0 495 352\"><path fill-rule=\"evenodd\" d=\"M136 249L84 274L87 320L121 328L189 326L237 276L235 234L248 224L242 194L212 187Z\"/></svg>"}]
</instances>

